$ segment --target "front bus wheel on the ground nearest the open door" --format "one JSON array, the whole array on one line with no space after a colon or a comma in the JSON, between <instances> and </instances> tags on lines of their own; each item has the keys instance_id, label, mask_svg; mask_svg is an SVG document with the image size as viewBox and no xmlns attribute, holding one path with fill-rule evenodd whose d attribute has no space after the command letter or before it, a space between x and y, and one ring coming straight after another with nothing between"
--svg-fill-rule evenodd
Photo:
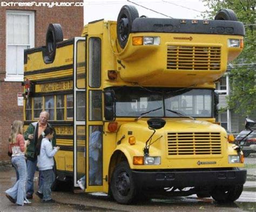
<instances>
[{"instance_id":1,"label":"front bus wheel on the ground nearest the open door","mask_svg":"<svg viewBox=\"0 0 256 212\"><path fill-rule=\"evenodd\" d=\"M120 204L130 204L137 196L137 188L132 172L126 161L120 162L113 171L111 191L114 200Z\"/></svg>"}]
</instances>

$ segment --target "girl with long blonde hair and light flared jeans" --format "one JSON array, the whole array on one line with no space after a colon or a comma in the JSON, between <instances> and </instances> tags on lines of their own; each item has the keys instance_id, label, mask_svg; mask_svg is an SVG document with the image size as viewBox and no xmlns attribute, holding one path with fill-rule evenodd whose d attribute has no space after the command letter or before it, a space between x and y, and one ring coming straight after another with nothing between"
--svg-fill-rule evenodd
<instances>
[{"instance_id":1,"label":"girl with long blonde hair and light flared jeans","mask_svg":"<svg viewBox=\"0 0 256 212\"><path fill-rule=\"evenodd\" d=\"M19 179L12 188L5 191L5 195L12 203L17 203L19 206L31 203L26 199L25 192L26 161L24 151L29 143L29 140L24 140L22 122L14 121L9 136L9 152L12 153L11 162L18 170Z\"/></svg>"}]
</instances>

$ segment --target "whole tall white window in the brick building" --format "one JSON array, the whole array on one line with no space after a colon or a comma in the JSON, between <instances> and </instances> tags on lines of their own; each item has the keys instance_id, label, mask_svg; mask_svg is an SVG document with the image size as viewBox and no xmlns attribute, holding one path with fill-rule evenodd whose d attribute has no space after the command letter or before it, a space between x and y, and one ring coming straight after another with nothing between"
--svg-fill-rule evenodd
<instances>
[{"instance_id":1,"label":"whole tall white window in the brick building","mask_svg":"<svg viewBox=\"0 0 256 212\"><path fill-rule=\"evenodd\" d=\"M6 78L23 81L24 50L35 45L35 13L6 11Z\"/></svg>"}]
</instances>

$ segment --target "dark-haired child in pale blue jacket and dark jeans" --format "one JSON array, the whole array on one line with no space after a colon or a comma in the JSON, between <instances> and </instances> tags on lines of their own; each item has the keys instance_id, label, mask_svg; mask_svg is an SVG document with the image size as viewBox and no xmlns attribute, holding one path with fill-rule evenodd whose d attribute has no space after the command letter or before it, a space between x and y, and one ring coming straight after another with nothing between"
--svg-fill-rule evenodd
<instances>
[{"instance_id":1,"label":"dark-haired child in pale blue jacket and dark jeans","mask_svg":"<svg viewBox=\"0 0 256 212\"><path fill-rule=\"evenodd\" d=\"M53 133L54 130L52 128L45 128L36 146L37 166L44 178L43 202L55 202L51 197L51 185L55 180L53 156L55 156L59 147L52 147L51 139L53 138Z\"/></svg>"}]
</instances>

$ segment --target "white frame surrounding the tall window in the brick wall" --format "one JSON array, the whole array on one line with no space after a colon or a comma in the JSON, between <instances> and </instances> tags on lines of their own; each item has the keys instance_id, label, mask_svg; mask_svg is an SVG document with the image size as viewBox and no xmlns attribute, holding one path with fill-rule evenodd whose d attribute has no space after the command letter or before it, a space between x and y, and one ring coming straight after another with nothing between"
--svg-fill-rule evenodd
<instances>
[{"instance_id":1,"label":"white frame surrounding the tall window in the brick wall","mask_svg":"<svg viewBox=\"0 0 256 212\"><path fill-rule=\"evenodd\" d=\"M22 82L23 81L23 75L14 75L14 74L8 74L7 70L7 49L8 49L8 15L28 15L29 16L29 48L35 47L35 12L33 11L27 11L27 10L6 10L5 14L5 70L6 75L4 81L14 81L14 82ZM22 46L22 45L17 45ZM28 46L28 45L26 45ZM24 54L23 54L24 55ZM22 55L22 56L23 56Z\"/></svg>"}]
</instances>

